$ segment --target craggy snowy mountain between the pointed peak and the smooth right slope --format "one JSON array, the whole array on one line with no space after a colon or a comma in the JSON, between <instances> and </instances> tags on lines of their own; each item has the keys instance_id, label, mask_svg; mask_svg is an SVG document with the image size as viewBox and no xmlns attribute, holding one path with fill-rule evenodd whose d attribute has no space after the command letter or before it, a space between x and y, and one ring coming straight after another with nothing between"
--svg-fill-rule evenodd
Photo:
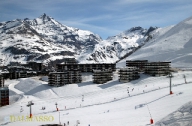
<instances>
[{"instance_id":1,"label":"craggy snowy mountain between the pointed peak and the smooth right slope","mask_svg":"<svg viewBox=\"0 0 192 126\"><path fill-rule=\"evenodd\" d=\"M152 37L150 33L155 29L157 27L150 27L149 29L133 27L116 36L108 37L106 40L96 44L92 53L82 55L79 61L117 62L149 41Z\"/></svg>"}]
</instances>

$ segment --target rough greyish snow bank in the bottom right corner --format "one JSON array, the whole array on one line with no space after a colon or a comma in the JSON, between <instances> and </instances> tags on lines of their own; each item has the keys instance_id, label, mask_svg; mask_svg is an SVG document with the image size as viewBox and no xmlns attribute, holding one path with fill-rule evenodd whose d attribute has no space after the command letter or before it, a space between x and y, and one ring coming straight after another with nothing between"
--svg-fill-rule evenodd
<instances>
[{"instance_id":1,"label":"rough greyish snow bank in the bottom right corner","mask_svg":"<svg viewBox=\"0 0 192 126\"><path fill-rule=\"evenodd\" d=\"M186 103L177 111L169 114L156 123L157 126L191 126L192 125L192 101Z\"/></svg>"}]
</instances>

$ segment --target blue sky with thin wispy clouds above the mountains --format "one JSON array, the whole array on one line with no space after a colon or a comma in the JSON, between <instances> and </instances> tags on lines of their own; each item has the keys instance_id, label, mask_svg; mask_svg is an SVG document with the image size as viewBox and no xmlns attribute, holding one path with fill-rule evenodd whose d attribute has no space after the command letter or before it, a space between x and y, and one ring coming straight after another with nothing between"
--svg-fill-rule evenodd
<instances>
[{"instance_id":1,"label":"blue sky with thin wispy clouds above the mountains","mask_svg":"<svg viewBox=\"0 0 192 126\"><path fill-rule=\"evenodd\" d=\"M192 16L192 0L0 0L0 22L43 13L103 39L132 27L166 27Z\"/></svg>"}]
</instances>

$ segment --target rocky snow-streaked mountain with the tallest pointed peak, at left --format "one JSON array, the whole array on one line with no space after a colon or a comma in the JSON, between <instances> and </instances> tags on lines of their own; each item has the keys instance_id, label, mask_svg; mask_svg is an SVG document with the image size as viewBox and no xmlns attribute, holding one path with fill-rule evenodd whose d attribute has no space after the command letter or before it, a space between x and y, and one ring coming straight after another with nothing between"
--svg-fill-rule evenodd
<instances>
[{"instance_id":1,"label":"rocky snow-streaked mountain with the tallest pointed peak, at left","mask_svg":"<svg viewBox=\"0 0 192 126\"><path fill-rule=\"evenodd\" d=\"M46 14L0 23L0 64L50 61L80 55L102 39L90 31L60 24Z\"/></svg>"}]
</instances>

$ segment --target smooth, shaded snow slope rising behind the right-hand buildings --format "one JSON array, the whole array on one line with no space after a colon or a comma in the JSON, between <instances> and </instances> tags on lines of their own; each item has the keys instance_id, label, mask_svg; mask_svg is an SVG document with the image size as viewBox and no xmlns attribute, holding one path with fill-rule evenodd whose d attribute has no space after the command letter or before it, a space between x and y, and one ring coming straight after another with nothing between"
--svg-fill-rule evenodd
<instances>
[{"instance_id":1,"label":"smooth, shaded snow slope rising behind the right-hand buildings","mask_svg":"<svg viewBox=\"0 0 192 126\"><path fill-rule=\"evenodd\" d=\"M171 61L173 67L192 67L192 17L175 26L158 28L151 33L152 39L126 60Z\"/></svg>"}]
</instances>

